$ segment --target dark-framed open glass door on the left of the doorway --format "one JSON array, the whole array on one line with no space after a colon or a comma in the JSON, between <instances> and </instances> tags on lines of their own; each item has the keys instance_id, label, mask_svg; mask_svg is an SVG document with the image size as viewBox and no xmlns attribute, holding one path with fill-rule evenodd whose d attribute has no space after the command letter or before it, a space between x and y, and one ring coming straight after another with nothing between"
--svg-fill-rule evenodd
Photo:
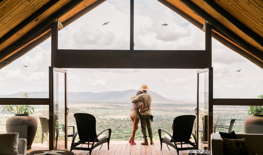
<instances>
[{"instance_id":1,"label":"dark-framed open glass door on the left of the doorway","mask_svg":"<svg viewBox=\"0 0 263 155\"><path fill-rule=\"evenodd\" d=\"M49 67L50 150L67 149L67 70Z\"/></svg>"}]
</instances>

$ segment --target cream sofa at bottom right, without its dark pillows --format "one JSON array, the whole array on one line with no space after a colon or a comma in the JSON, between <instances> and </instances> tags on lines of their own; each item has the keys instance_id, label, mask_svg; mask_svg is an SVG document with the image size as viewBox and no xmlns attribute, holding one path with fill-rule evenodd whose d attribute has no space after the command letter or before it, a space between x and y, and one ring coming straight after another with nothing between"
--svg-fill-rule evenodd
<instances>
[{"instance_id":1,"label":"cream sofa at bottom right, without its dark pillows","mask_svg":"<svg viewBox=\"0 0 263 155\"><path fill-rule=\"evenodd\" d=\"M236 134L237 139L246 138L248 153L263 153L263 134ZM223 155L223 139L219 133L211 134L211 155Z\"/></svg>"}]
</instances>

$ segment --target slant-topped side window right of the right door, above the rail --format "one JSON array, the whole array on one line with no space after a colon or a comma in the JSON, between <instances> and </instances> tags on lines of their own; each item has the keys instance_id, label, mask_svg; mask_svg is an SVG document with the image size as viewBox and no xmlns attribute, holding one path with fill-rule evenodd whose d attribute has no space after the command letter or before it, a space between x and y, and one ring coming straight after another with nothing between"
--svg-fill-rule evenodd
<instances>
[{"instance_id":1,"label":"slant-topped side window right of the right door, above the rail","mask_svg":"<svg viewBox=\"0 0 263 155\"><path fill-rule=\"evenodd\" d=\"M252 99L263 94L263 70L213 38L212 66L213 98Z\"/></svg>"}]
</instances>

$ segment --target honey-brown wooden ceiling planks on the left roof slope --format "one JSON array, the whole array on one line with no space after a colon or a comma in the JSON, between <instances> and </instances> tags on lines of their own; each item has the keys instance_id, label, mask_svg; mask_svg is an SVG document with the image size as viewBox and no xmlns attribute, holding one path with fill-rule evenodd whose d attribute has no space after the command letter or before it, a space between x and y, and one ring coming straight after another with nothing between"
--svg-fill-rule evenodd
<instances>
[{"instance_id":1,"label":"honey-brown wooden ceiling planks on the left roof slope","mask_svg":"<svg viewBox=\"0 0 263 155\"><path fill-rule=\"evenodd\" d=\"M53 1L53 2L52 2ZM0 63L12 56L14 53L1 57L2 51L15 44L20 38L36 28L39 24L53 15L56 11L63 8L72 0L3 0L0 2ZM62 15L59 20L65 22L84 8L90 6L98 0L83 0L73 9ZM105 0L106 1L106 0ZM50 5L50 6L47 6ZM47 7L44 11L43 7ZM41 14L37 11L42 9ZM25 24L25 21L31 18L31 21ZM71 22L70 22L71 23ZM23 24L22 28L19 26ZM69 24L69 23L68 23ZM11 31L15 31L14 33ZM50 29L43 33L44 36ZM11 33L11 35L10 35ZM28 46L28 45L25 45Z\"/></svg>"}]
</instances>

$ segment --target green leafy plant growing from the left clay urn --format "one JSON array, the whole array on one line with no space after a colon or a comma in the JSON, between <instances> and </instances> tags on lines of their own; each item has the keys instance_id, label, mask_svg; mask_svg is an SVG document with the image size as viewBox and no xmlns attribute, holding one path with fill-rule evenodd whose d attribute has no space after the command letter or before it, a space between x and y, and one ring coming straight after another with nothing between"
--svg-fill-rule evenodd
<instances>
[{"instance_id":1,"label":"green leafy plant growing from the left clay urn","mask_svg":"<svg viewBox=\"0 0 263 155\"><path fill-rule=\"evenodd\" d=\"M28 93L22 95L24 98L28 97ZM8 111L15 114L30 115L35 112L35 108L30 105L2 105L3 111Z\"/></svg>"}]
</instances>

